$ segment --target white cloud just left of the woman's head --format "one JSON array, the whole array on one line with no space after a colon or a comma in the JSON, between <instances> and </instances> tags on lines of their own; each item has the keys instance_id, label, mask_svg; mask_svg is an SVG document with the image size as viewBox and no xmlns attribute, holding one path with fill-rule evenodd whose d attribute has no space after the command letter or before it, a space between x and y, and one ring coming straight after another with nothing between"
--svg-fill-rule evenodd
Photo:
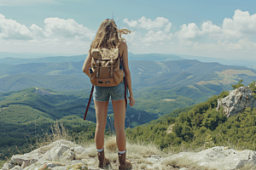
<instances>
[{"instance_id":1,"label":"white cloud just left of the woman's head","mask_svg":"<svg viewBox=\"0 0 256 170\"><path fill-rule=\"evenodd\" d=\"M44 20L44 30L50 35L59 35L67 38L78 38L82 41L92 40L95 31L79 25L73 19L47 18Z\"/></svg>"}]
</instances>

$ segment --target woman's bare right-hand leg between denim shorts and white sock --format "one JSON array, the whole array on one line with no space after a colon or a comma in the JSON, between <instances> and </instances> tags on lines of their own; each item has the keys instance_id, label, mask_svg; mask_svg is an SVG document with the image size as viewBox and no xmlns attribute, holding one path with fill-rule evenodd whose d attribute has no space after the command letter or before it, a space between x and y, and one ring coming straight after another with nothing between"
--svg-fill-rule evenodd
<instances>
[{"instance_id":1,"label":"woman's bare right-hand leg between denim shorts and white sock","mask_svg":"<svg viewBox=\"0 0 256 170\"><path fill-rule=\"evenodd\" d=\"M114 128L116 131L116 144L119 151L125 151L126 138L125 138L125 99L114 101L113 116L114 116Z\"/></svg>"}]
</instances>

